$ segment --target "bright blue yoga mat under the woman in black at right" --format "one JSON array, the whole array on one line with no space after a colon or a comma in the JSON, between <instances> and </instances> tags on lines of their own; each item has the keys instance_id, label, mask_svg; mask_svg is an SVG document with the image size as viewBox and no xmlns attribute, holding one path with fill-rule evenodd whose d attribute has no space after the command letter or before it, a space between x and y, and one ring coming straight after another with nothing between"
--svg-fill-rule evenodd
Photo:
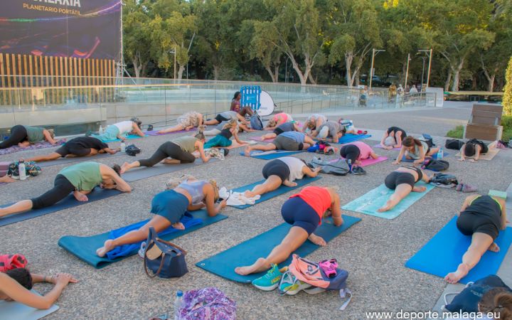
<instances>
[{"instance_id":1,"label":"bright blue yoga mat under the woman in black at right","mask_svg":"<svg viewBox=\"0 0 512 320\"><path fill-rule=\"evenodd\" d=\"M500 251L484 253L478 265L469 270L460 283L474 282L498 272L512 243L512 228L501 230L495 242ZM471 237L460 233L457 229L457 217L454 217L420 251L405 262L405 267L444 278L449 272L457 270L457 266L462 262L462 255L470 244Z\"/></svg>"}]
</instances>

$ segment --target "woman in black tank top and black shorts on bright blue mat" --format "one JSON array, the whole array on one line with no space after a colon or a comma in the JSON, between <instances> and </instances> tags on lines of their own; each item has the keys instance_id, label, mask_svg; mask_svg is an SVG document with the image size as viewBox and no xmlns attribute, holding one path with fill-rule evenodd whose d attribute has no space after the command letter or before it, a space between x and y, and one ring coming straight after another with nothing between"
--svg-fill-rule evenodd
<instances>
[{"instance_id":1,"label":"woman in black tank top and black shorts on bright blue mat","mask_svg":"<svg viewBox=\"0 0 512 320\"><path fill-rule=\"evenodd\" d=\"M462 256L462 263L455 272L450 272L444 279L457 283L466 277L484 253L489 250L498 252L494 240L500 230L506 228L505 199L494 196L471 195L464 200L460 213L457 213L457 229L463 235L471 235L471 245Z\"/></svg>"}]
</instances>

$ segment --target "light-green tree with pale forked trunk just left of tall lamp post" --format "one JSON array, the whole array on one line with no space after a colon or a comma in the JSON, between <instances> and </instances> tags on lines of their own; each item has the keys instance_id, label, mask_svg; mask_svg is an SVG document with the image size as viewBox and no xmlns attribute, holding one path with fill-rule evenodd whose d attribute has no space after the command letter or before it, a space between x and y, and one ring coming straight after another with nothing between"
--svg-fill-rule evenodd
<instances>
[{"instance_id":1,"label":"light-green tree with pale forked trunk just left of tall lamp post","mask_svg":"<svg viewBox=\"0 0 512 320\"><path fill-rule=\"evenodd\" d=\"M329 62L334 65L343 61L347 85L353 86L368 53L382 46L378 14L370 0L329 0L328 4L331 8L329 41L332 43Z\"/></svg>"}]
</instances>

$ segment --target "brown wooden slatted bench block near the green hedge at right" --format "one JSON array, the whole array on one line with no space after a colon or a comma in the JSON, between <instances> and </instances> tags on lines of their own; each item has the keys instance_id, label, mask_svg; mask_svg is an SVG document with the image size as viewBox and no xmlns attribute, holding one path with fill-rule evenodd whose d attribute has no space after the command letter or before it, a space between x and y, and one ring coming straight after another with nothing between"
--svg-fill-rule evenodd
<instances>
[{"instance_id":1,"label":"brown wooden slatted bench block near the green hedge at right","mask_svg":"<svg viewBox=\"0 0 512 320\"><path fill-rule=\"evenodd\" d=\"M464 127L464 139L479 139L494 141L501 139L501 105L475 103L471 110L471 117Z\"/></svg>"}]
</instances>

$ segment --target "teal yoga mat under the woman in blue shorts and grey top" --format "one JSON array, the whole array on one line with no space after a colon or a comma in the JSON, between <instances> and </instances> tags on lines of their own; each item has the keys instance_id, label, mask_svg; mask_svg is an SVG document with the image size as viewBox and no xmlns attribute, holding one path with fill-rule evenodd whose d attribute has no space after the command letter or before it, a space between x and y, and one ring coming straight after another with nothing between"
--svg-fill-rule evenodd
<instances>
[{"instance_id":1,"label":"teal yoga mat under the woman in blue shorts and grey top","mask_svg":"<svg viewBox=\"0 0 512 320\"><path fill-rule=\"evenodd\" d=\"M215 217L209 217L206 210L198 210L191 212L193 218L203 220L203 223L199 225L194 225L191 228L187 228L185 230L176 230L176 232L168 233L167 235L163 235L161 239L166 241L173 240L175 238L181 237L181 235L186 235L187 233L191 233L195 230L206 227L206 225L211 225L212 223L216 223L220 220L224 220L228 218L226 215L215 215ZM147 221L147 220L146 220ZM110 260L107 257L98 257L96 255L96 250L99 247L102 247L103 243L109 239L110 231L107 233L101 233L100 235L90 235L87 237L77 237L74 235L66 235L63 238L60 238L58 241L58 245L63 247L65 250L70 252L71 254L77 256L80 260L87 262L87 264L92 265L96 269L100 269L102 267L106 267L111 263L123 260L126 257L131 255L136 255L137 251L134 250L129 252L129 255L126 257L118 257L114 260Z\"/></svg>"}]
</instances>

